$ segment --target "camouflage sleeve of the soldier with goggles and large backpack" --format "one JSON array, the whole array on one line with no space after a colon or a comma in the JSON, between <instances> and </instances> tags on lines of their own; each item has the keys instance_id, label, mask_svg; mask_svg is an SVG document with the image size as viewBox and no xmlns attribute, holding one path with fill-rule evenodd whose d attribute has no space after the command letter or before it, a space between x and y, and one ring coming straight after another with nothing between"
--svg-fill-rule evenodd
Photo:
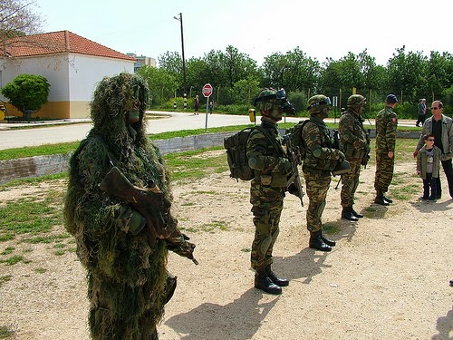
<instances>
[{"instance_id":1,"label":"camouflage sleeve of the soldier with goggles and large backpack","mask_svg":"<svg viewBox=\"0 0 453 340\"><path fill-rule=\"evenodd\" d=\"M281 163L280 157L268 156L267 145L269 139L261 131L252 131L247 141L248 165L253 170L272 171L276 170Z\"/></svg>"}]
</instances>

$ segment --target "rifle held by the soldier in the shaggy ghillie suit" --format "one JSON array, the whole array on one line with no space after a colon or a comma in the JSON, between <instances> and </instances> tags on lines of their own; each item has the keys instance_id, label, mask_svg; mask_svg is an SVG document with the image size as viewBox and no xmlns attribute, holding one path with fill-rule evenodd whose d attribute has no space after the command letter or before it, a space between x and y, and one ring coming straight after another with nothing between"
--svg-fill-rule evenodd
<instances>
[{"instance_id":1,"label":"rifle held by the soldier in the shaggy ghillie suit","mask_svg":"<svg viewBox=\"0 0 453 340\"><path fill-rule=\"evenodd\" d=\"M158 238L165 239L170 250L180 256L188 257L198 265L198 261L193 256L195 245L188 243L189 238L177 228L178 219L174 219L170 214L171 202L165 198L154 182L149 183L148 188L136 187L130 183L120 169L112 167L99 187L107 194L124 200L140 212L146 219L151 245Z\"/></svg>"}]
</instances>

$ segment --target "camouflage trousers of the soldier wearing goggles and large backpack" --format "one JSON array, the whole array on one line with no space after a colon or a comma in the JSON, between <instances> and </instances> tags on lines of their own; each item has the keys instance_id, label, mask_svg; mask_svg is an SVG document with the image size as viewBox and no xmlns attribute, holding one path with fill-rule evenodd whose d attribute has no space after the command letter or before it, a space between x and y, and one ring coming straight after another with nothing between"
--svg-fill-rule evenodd
<instances>
[{"instance_id":1,"label":"camouflage trousers of the soldier wearing goggles and large backpack","mask_svg":"<svg viewBox=\"0 0 453 340\"><path fill-rule=\"evenodd\" d=\"M250 203L254 214L255 238L250 256L251 266L256 272L274 262L272 256L275 241L280 231L278 225L283 210L284 189L262 186L252 180Z\"/></svg>"}]
</instances>

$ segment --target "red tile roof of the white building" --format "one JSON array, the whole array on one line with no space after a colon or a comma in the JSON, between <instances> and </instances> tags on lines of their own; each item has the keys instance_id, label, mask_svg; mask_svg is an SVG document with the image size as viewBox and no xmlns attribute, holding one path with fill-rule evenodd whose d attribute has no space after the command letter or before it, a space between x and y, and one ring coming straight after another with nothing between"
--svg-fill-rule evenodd
<instances>
[{"instance_id":1,"label":"red tile roof of the white building","mask_svg":"<svg viewBox=\"0 0 453 340\"><path fill-rule=\"evenodd\" d=\"M13 57L55 53L81 53L136 61L136 58L112 50L69 31L24 35L6 41L6 53Z\"/></svg>"}]
</instances>

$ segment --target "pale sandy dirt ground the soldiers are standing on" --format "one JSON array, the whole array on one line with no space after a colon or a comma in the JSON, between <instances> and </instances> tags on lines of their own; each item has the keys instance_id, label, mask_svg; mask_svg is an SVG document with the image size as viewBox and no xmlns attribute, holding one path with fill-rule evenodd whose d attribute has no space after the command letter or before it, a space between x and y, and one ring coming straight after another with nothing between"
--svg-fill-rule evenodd
<instances>
[{"instance_id":1,"label":"pale sandy dirt ground the soldiers are standing on","mask_svg":"<svg viewBox=\"0 0 453 340\"><path fill-rule=\"evenodd\" d=\"M420 192L421 181L407 175L413 167L397 164L395 171ZM323 215L337 241L330 253L307 247L308 199L304 208L295 197L285 199L274 269L291 282L281 296L253 287L249 183L223 173L174 186L175 214L197 244L199 265L170 254L178 288L159 339L452 339L453 200L444 174L438 202L420 202L412 192L389 207L372 204L373 176L373 167L362 171L355 208L365 218L357 223L340 219L333 180ZM0 201L31 193L11 189L0 192ZM12 244L2 242L0 250ZM88 339L86 281L77 257L55 256L45 244L32 247L30 263L0 264L0 277L11 276L0 285L0 325L14 329L16 339Z\"/></svg>"}]
</instances>

